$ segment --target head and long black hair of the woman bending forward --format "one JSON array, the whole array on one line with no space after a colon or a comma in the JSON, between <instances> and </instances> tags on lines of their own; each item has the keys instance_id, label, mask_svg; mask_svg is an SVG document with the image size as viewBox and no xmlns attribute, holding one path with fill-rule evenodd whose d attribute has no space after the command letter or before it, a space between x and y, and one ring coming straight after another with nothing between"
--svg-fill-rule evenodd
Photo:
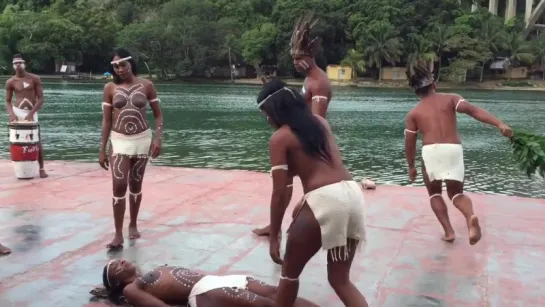
<instances>
[{"instance_id":1,"label":"head and long black hair of the woman bending forward","mask_svg":"<svg viewBox=\"0 0 545 307\"><path fill-rule=\"evenodd\" d=\"M273 128L289 126L306 154L331 162L326 130L299 92L273 79L263 85L257 105Z\"/></svg>"}]
</instances>

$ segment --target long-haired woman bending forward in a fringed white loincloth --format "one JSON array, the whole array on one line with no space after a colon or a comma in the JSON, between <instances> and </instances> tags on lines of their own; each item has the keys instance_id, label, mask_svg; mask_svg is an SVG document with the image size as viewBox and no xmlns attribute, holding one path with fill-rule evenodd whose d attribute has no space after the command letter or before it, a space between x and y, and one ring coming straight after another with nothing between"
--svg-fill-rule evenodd
<instances>
[{"instance_id":1,"label":"long-haired woman bending forward in a fringed white loincloth","mask_svg":"<svg viewBox=\"0 0 545 307\"><path fill-rule=\"evenodd\" d=\"M312 113L303 96L280 80L265 84L257 102L276 130L269 142L273 177L270 255L282 264L276 306L292 306L299 276L320 248L328 251L328 280L344 305L368 306L349 277L356 249L365 241L363 191L344 167L331 128L323 117ZM288 230L282 261L280 230L293 176L301 179L305 196Z\"/></svg>"}]
</instances>

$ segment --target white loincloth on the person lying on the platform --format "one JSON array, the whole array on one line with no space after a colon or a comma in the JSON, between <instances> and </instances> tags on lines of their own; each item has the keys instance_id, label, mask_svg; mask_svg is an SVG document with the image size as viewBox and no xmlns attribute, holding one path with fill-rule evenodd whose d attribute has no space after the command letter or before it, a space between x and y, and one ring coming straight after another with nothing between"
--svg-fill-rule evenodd
<instances>
[{"instance_id":1,"label":"white loincloth on the person lying on the platform","mask_svg":"<svg viewBox=\"0 0 545 307\"><path fill-rule=\"evenodd\" d=\"M191 289L188 298L189 307L197 307L197 296L220 288L237 288L246 290L248 287L248 276L246 275L207 275L199 280Z\"/></svg>"}]
</instances>

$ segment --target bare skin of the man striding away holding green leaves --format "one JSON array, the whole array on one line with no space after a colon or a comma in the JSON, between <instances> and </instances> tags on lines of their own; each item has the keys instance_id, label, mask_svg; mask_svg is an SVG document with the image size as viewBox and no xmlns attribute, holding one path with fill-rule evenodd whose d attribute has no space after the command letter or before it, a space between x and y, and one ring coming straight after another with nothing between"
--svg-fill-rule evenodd
<instances>
[{"instance_id":1,"label":"bare skin of the man striding away holding green leaves","mask_svg":"<svg viewBox=\"0 0 545 307\"><path fill-rule=\"evenodd\" d=\"M432 84L430 91L419 96L420 102L407 114L405 129L418 131L422 134L422 145L431 144L461 144L458 135L456 112L467 114L476 120L496 127L503 136L512 137L513 131L486 110L474 106L456 94L442 94L435 92L435 84ZM461 102L460 102L461 101ZM458 103L460 102L460 103ZM456 106L458 108L456 109ZM417 176L415 167L417 133L407 132L405 136L405 155L409 166L409 179L414 182ZM426 172L426 166L422 163L422 174L428 194L435 195L430 199L431 207L441 223L445 235L443 240L453 242L456 234L450 223L447 206L443 200L442 181L431 181ZM445 180L447 195L453 199L456 195L463 193L464 183L455 180ZM476 244L481 238L479 220L473 212L471 199L467 195L458 195L453 202L454 206L462 212L466 219L469 230L469 243Z\"/></svg>"}]
</instances>

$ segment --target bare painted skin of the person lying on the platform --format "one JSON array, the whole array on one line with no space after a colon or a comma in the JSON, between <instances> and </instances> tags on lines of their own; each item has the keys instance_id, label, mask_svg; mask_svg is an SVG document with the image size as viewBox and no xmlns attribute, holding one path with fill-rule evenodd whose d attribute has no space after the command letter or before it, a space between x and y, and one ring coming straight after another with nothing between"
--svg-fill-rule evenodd
<instances>
[{"instance_id":1,"label":"bare painted skin of the person lying on the platform","mask_svg":"<svg viewBox=\"0 0 545 307\"><path fill-rule=\"evenodd\" d=\"M171 272L188 272L187 280L179 282ZM205 275L179 267L163 266L140 275L128 261L115 260L109 269L110 282L124 286L123 295L135 307L166 307L187 305L188 297L195 284ZM227 291L227 293L226 293ZM276 287L248 278L247 289L215 289L197 296L199 307L262 307L274 306ZM233 296L239 296L233 297ZM318 307L305 299L298 298L294 307Z\"/></svg>"}]
</instances>

